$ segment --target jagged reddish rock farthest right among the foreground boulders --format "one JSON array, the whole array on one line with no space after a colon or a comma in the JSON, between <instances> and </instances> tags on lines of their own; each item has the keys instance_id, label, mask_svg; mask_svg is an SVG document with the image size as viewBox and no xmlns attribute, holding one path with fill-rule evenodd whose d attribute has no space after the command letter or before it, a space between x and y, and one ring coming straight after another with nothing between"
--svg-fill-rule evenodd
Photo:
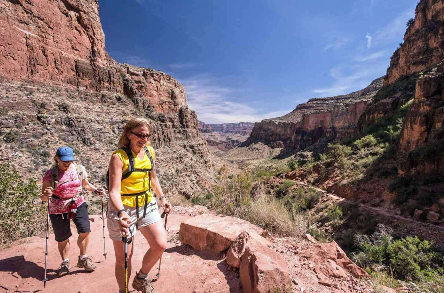
<instances>
[{"instance_id":1,"label":"jagged reddish rock farthest right among the foreground boulders","mask_svg":"<svg viewBox=\"0 0 444 293\"><path fill-rule=\"evenodd\" d=\"M365 270L355 265L334 241L311 246L298 255L316 264L313 267L315 273L328 277L345 277L345 270L357 278L370 277Z\"/></svg>"}]
</instances>

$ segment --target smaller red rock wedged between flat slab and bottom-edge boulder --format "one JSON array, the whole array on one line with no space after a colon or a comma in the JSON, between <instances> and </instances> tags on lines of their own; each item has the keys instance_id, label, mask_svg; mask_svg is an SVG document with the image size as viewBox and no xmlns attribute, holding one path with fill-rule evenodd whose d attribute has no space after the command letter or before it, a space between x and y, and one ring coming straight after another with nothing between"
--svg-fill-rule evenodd
<instances>
[{"instance_id":1,"label":"smaller red rock wedged between flat slab and bottom-edge boulder","mask_svg":"<svg viewBox=\"0 0 444 293\"><path fill-rule=\"evenodd\" d=\"M248 233L243 231L239 236L231 243L230 249L226 254L226 262L233 267L239 268L242 262L242 255L245 252L246 247L267 246L271 247L271 243L255 233Z\"/></svg>"}]
</instances>

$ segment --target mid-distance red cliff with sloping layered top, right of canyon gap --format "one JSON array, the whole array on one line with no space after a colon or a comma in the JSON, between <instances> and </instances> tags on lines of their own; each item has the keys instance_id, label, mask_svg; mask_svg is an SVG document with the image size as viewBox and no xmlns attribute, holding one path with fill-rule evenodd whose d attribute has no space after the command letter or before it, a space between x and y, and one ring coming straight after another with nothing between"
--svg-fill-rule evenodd
<instances>
[{"instance_id":1,"label":"mid-distance red cliff with sloping layered top, right of canyon gap","mask_svg":"<svg viewBox=\"0 0 444 293\"><path fill-rule=\"evenodd\" d=\"M247 146L262 141L270 147L300 150L321 137L341 142L357 133L357 123L366 105L382 87L383 77L363 90L331 98L314 98L297 105L282 117L262 120L254 125Z\"/></svg>"}]
</instances>

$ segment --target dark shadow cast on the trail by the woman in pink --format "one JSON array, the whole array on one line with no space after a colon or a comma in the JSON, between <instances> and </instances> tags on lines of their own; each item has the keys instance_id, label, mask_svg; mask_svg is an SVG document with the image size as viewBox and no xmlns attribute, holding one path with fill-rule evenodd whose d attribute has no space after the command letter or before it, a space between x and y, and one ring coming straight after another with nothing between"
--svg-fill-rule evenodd
<instances>
[{"instance_id":1,"label":"dark shadow cast on the trail by the woman in pink","mask_svg":"<svg viewBox=\"0 0 444 293\"><path fill-rule=\"evenodd\" d=\"M79 270L73 270L77 267L73 266L71 268L71 271L68 274L71 273L91 273L91 271L79 269ZM57 269L51 269L47 268L47 278L48 281L51 281L55 278L57 278ZM23 255L13 256L11 258L4 258L0 260L0 271L2 272L11 272L12 277L16 277L17 279L19 276L22 279L25 278L35 278L37 280L43 280L45 268L44 263L41 263L41 266L38 265L35 262L28 262ZM17 276L18 275L18 276Z\"/></svg>"}]
</instances>

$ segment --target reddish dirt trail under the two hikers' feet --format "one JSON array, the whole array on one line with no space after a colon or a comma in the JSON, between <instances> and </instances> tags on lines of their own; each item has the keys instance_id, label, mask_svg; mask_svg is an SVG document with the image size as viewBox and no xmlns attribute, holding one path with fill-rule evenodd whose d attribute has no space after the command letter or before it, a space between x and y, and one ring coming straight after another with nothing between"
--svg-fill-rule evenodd
<instances>
[{"instance_id":1,"label":"reddish dirt trail under the two hikers' feet","mask_svg":"<svg viewBox=\"0 0 444 293\"><path fill-rule=\"evenodd\" d=\"M190 246L176 244L177 232L182 221L190 218L187 213L176 211L168 216L168 244L162 258L161 276L159 281L153 282L158 293L198 292L238 293L238 274L232 272L222 255L197 252ZM71 272L63 277L56 277L61 258L57 250L54 235L49 236L48 246L48 279L46 288L43 287L45 238L29 237L13 243L10 247L0 250L0 292L52 292L52 293L104 293L118 292L114 277L115 257L112 241L108 238L105 227L105 245L107 259L103 258L102 218L99 215L90 216L91 241L88 255L94 258L97 269L93 272L79 270L77 257L79 249L76 246L77 233L71 226L73 236L70 238ZM42 224L44 220L42 220ZM105 223L106 225L106 223ZM148 243L141 236L135 235L135 251L133 255L133 271L129 279L129 288L132 289L132 280L135 270L139 270L143 254L148 249ZM159 262L150 273L155 278ZM201 291L203 289L203 291ZM136 291L134 291L135 293Z\"/></svg>"}]
</instances>

